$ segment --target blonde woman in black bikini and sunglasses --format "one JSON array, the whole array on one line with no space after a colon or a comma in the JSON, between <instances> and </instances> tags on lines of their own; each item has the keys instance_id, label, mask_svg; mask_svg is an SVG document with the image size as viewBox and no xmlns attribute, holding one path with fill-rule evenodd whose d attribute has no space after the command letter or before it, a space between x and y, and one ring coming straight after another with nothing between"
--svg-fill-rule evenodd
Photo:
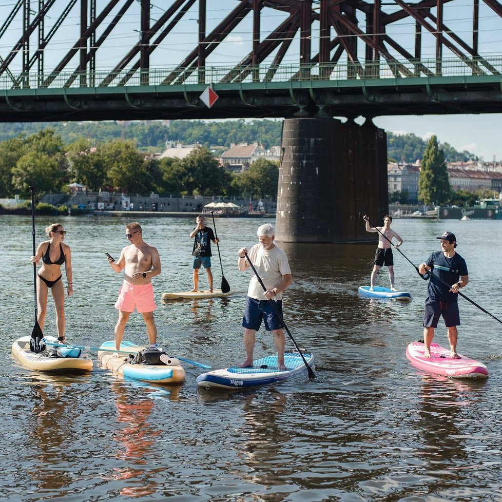
<instances>
[{"instance_id":1,"label":"blonde woman in black bikini and sunglasses","mask_svg":"<svg viewBox=\"0 0 502 502\"><path fill-rule=\"evenodd\" d=\"M36 249L36 255L30 258L31 263L42 266L37 272L36 296L38 304L38 325L44 330L47 315L47 297L49 289L54 300L56 310L57 337L60 343L65 343L65 288L61 275L61 265L65 264L66 279L68 281L68 296L73 295L71 277L70 246L64 244L66 230L61 223L49 224L45 233L50 241L41 242Z\"/></svg>"}]
</instances>

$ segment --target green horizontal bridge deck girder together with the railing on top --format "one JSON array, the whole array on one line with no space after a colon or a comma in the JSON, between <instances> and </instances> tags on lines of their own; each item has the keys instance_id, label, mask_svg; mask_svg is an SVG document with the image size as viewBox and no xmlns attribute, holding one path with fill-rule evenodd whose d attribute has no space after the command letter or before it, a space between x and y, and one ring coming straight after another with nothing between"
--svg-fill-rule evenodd
<instances>
[{"instance_id":1,"label":"green horizontal bridge deck girder together with the railing on top","mask_svg":"<svg viewBox=\"0 0 502 502\"><path fill-rule=\"evenodd\" d=\"M120 74L105 81L109 71L77 78L74 73L60 73L55 79L24 75L23 87L12 88L11 80L0 80L0 121L373 118L502 112L502 57L491 58L491 73L486 68L476 71L477 64L466 66L459 60L413 65L402 61L394 68L369 64L364 78L354 76L350 65L286 65L274 68L271 80L265 78L271 70L265 65L246 67L242 73L235 67L208 67L189 78L183 75L180 83L165 83L172 68L156 68L138 71L127 85L120 84ZM443 69L440 75L428 70L438 67ZM200 99L208 85L219 96L211 108Z\"/></svg>"}]
</instances>

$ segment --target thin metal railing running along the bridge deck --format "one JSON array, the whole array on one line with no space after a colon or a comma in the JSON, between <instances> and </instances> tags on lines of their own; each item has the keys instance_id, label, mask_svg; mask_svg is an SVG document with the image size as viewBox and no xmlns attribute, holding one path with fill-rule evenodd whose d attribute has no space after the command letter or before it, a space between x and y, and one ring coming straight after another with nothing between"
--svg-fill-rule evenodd
<instances>
[{"instance_id":1,"label":"thin metal railing running along the bridge deck","mask_svg":"<svg viewBox=\"0 0 502 502\"><path fill-rule=\"evenodd\" d=\"M0 75L0 90L354 81L502 75L502 56L361 63L208 66Z\"/></svg>"}]
</instances>

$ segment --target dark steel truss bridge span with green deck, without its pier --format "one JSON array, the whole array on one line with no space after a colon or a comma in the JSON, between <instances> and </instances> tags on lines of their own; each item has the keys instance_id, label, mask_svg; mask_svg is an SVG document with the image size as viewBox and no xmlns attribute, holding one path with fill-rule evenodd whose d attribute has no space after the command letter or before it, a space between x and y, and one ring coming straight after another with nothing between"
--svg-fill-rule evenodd
<instances>
[{"instance_id":1,"label":"dark steel truss bridge span with green deck, without its pier","mask_svg":"<svg viewBox=\"0 0 502 502\"><path fill-rule=\"evenodd\" d=\"M484 24L502 31L496 0L462 3L463 31L450 26L453 0L157 4L9 2L0 21L0 121L502 112L502 55L496 44L480 50ZM181 30L188 22L196 27L189 34ZM164 65L181 32L188 42ZM249 41L236 62L214 64L242 33ZM199 97L208 85L219 95L211 108Z\"/></svg>"}]
</instances>

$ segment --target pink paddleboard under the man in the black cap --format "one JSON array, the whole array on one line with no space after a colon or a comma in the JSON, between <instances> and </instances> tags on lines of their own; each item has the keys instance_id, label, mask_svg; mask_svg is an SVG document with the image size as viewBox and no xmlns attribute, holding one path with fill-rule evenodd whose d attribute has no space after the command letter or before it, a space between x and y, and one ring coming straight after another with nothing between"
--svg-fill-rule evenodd
<instances>
[{"instance_id":1,"label":"pink paddleboard under the man in the black cap","mask_svg":"<svg viewBox=\"0 0 502 502\"><path fill-rule=\"evenodd\" d=\"M423 357L423 341L412 342L406 348L406 357L419 370L435 375L453 378L487 378L485 364L458 354L460 359L453 359L450 350L437 343L431 343L431 357Z\"/></svg>"}]
</instances>

